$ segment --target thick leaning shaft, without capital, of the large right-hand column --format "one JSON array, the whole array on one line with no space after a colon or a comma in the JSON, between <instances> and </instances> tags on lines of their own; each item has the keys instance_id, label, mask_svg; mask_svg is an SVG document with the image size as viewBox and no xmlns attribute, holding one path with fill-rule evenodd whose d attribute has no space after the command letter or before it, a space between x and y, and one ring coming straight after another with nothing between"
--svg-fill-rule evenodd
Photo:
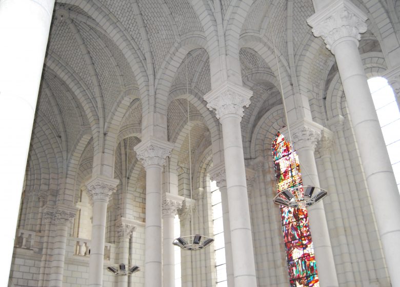
<instances>
[{"instance_id":1,"label":"thick leaning shaft, without capital, of the large right-hand column","mask_svg":"<svg viewBox=\"0 0 400 287\"><path fill-rule=\"evenodd\" d=\"M334 47L335 58L353 124L355 137L379 235L381 236L390 280L400 286L397 258L400 250L400 195L375 112L367 76L354 38L343 39Z\"/></svg>"}]
</instances>

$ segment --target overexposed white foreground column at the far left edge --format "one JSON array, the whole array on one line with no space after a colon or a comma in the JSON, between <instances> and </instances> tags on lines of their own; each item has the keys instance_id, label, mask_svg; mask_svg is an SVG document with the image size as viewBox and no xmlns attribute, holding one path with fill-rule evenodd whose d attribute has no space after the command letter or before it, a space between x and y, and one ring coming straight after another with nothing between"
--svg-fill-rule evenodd
<instances>
[{"instance_id":1,"label":"overexposed white foreground column at the far left edge","mask_svg":"<svg viewBox=\"0 0 400 287\"><path fill-rule=\"evenodd\" d=\"M54 0L0 2L0 285L8 284L19 201Z\"/></svg>"}]
</instances>

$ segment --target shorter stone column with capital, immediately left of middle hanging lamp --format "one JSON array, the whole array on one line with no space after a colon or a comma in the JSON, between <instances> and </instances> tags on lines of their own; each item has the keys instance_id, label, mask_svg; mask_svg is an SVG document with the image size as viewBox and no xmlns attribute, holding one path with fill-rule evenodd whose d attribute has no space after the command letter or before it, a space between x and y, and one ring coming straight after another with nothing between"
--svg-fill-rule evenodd
<instances>
[{"instance_id":1,"label":"shorter stone column with capital, immediately left of middle hanging lamp","mask_svg":"<svg viewBox=\"0 0 400 287\"><path fill-rule=\"evenodd\" d=\"M182 200L163 199L163 286L175 286L174 218L182 207Z\"/></svg>"}]
</instances>

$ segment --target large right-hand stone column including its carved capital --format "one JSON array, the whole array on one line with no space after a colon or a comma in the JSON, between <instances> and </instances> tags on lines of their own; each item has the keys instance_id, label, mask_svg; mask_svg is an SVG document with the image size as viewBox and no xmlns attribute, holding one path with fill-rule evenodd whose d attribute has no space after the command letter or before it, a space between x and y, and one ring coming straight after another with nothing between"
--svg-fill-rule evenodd
<instances>
[{"instance_id":1,"label":"large right-hand stone column including its carved capital","mask_svg":"<svg viewBox=\"0 0 400 287\"><path fill-rule=\"evenodd\" d=\"M358 52L359 33L367 30L366 19L350 1L336 0L307 21L335 55L389 276L393 286L400 286L400 249L393 248L400 242L400 195Z\"/></svg>"}]
</instances>

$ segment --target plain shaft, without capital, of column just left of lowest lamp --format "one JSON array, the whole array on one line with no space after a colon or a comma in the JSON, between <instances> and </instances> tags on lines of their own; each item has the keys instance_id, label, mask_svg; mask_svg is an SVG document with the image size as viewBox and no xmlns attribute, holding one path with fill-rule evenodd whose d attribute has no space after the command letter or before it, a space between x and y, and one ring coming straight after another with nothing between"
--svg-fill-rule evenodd
<instances>
[{"instance_id":1,"label":"plain shaft, without capital, of column just left of lowest lamp","mask_svg":"<svg viewBox=\"0 0 400 287\"><path fill-rule=\"evenodd\" d=\"M107 218L106 200L93 202L92 240L89 257L89 286L103 286L104 244Z\"/></svg>"}]
</instances>

